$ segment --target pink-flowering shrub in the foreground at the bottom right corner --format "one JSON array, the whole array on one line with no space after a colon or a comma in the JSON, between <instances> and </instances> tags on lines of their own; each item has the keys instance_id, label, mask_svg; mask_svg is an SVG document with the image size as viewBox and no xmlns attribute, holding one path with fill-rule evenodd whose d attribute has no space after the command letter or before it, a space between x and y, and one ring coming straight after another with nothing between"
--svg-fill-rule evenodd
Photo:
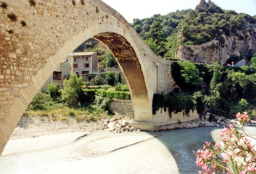
<instances>
[{"instance_id":1,"label":"pink-flowering shrub in the foreground at the bottom right corner","mask_svg":"<svg viewBox=\"0 0 256 174\"><path fill-rule=\"evenodd\" d=\"M242 132L248 136L243 130L244 123L249 121L247 113L238 113L237 118L241 123ZM222 140L217 141L214 146L210 145L210 142L205 142L204 150L197 151L197 165L203 169L199 173L255 174L254 145L243 133L229 125L229 128L220 131Z\"/></svg>"}]
</instances>

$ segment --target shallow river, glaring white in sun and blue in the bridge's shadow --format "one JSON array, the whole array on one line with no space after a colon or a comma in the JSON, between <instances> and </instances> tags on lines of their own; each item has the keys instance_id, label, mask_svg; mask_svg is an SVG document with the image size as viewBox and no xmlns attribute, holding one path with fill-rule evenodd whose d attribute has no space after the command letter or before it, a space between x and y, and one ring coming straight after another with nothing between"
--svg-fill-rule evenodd
<instances>
[{"instance_id":1,"label":"shallow river, glaring white in sun and blue in the bridge's shadow","mask_svg":"<svg viewBox=\"0 0 256 174\"><path fill-rule=\"evenodd\" d=\"M12 140L0 157L0 173L198 173L196 152L205 141L220 140L219 131L216 127L121 134L102 130L75 142L73 139L81 133L62 134L68 138L58 143L55 142L58 135L46 136L45 140L42 137L33 141ZM255 127L246 127L246 132L256 136ZM79 154L79 146L88 141L148 134L160 136L101 156L80 159L70 156Z\"/></svg>"}]
</instances>

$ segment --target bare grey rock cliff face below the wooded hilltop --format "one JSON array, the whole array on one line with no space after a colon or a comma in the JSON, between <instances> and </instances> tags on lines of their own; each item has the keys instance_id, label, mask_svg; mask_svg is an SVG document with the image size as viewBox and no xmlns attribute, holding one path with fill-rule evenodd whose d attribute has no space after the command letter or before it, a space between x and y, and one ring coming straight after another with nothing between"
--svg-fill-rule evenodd
<instances>
[{"instance_id":1,"label":"bare grey rock cliff face below the wooded hilltop","mask_svg":"<svg viewBox=\"0 0 256 174\"><path fill-rule=\"evenodd\" d=\"M238 31L236 35L225 36L225 43L213 40L201 45L183 45L178 48L176 58L194 63L219 62L230 63L245 59L249 65L250 58L256 53L256 27L250 25L249 30Z\"/></svg>"}]
</instances>

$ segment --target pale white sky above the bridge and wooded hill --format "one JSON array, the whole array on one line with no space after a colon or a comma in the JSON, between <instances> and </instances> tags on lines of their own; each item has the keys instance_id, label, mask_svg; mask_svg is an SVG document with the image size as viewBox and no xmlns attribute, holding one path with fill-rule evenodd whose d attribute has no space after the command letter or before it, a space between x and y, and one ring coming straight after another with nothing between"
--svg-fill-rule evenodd
<instances>
[{"instance_id":1,"label":"pale white sky above the bridge and wooded hill","mask_svg":"<svg viewBox=\"0 0 256 174\"><path fill-rule=\"evenodd\" d=\"M154 14L166 15L177 10L195 9L200 0L101 0L119 12L127 21L134 18L152 17ZM208 0L206 0L207 2ZM256 0L211 0L225 10L256 15Z\"/></svg>"}]
</instances>

